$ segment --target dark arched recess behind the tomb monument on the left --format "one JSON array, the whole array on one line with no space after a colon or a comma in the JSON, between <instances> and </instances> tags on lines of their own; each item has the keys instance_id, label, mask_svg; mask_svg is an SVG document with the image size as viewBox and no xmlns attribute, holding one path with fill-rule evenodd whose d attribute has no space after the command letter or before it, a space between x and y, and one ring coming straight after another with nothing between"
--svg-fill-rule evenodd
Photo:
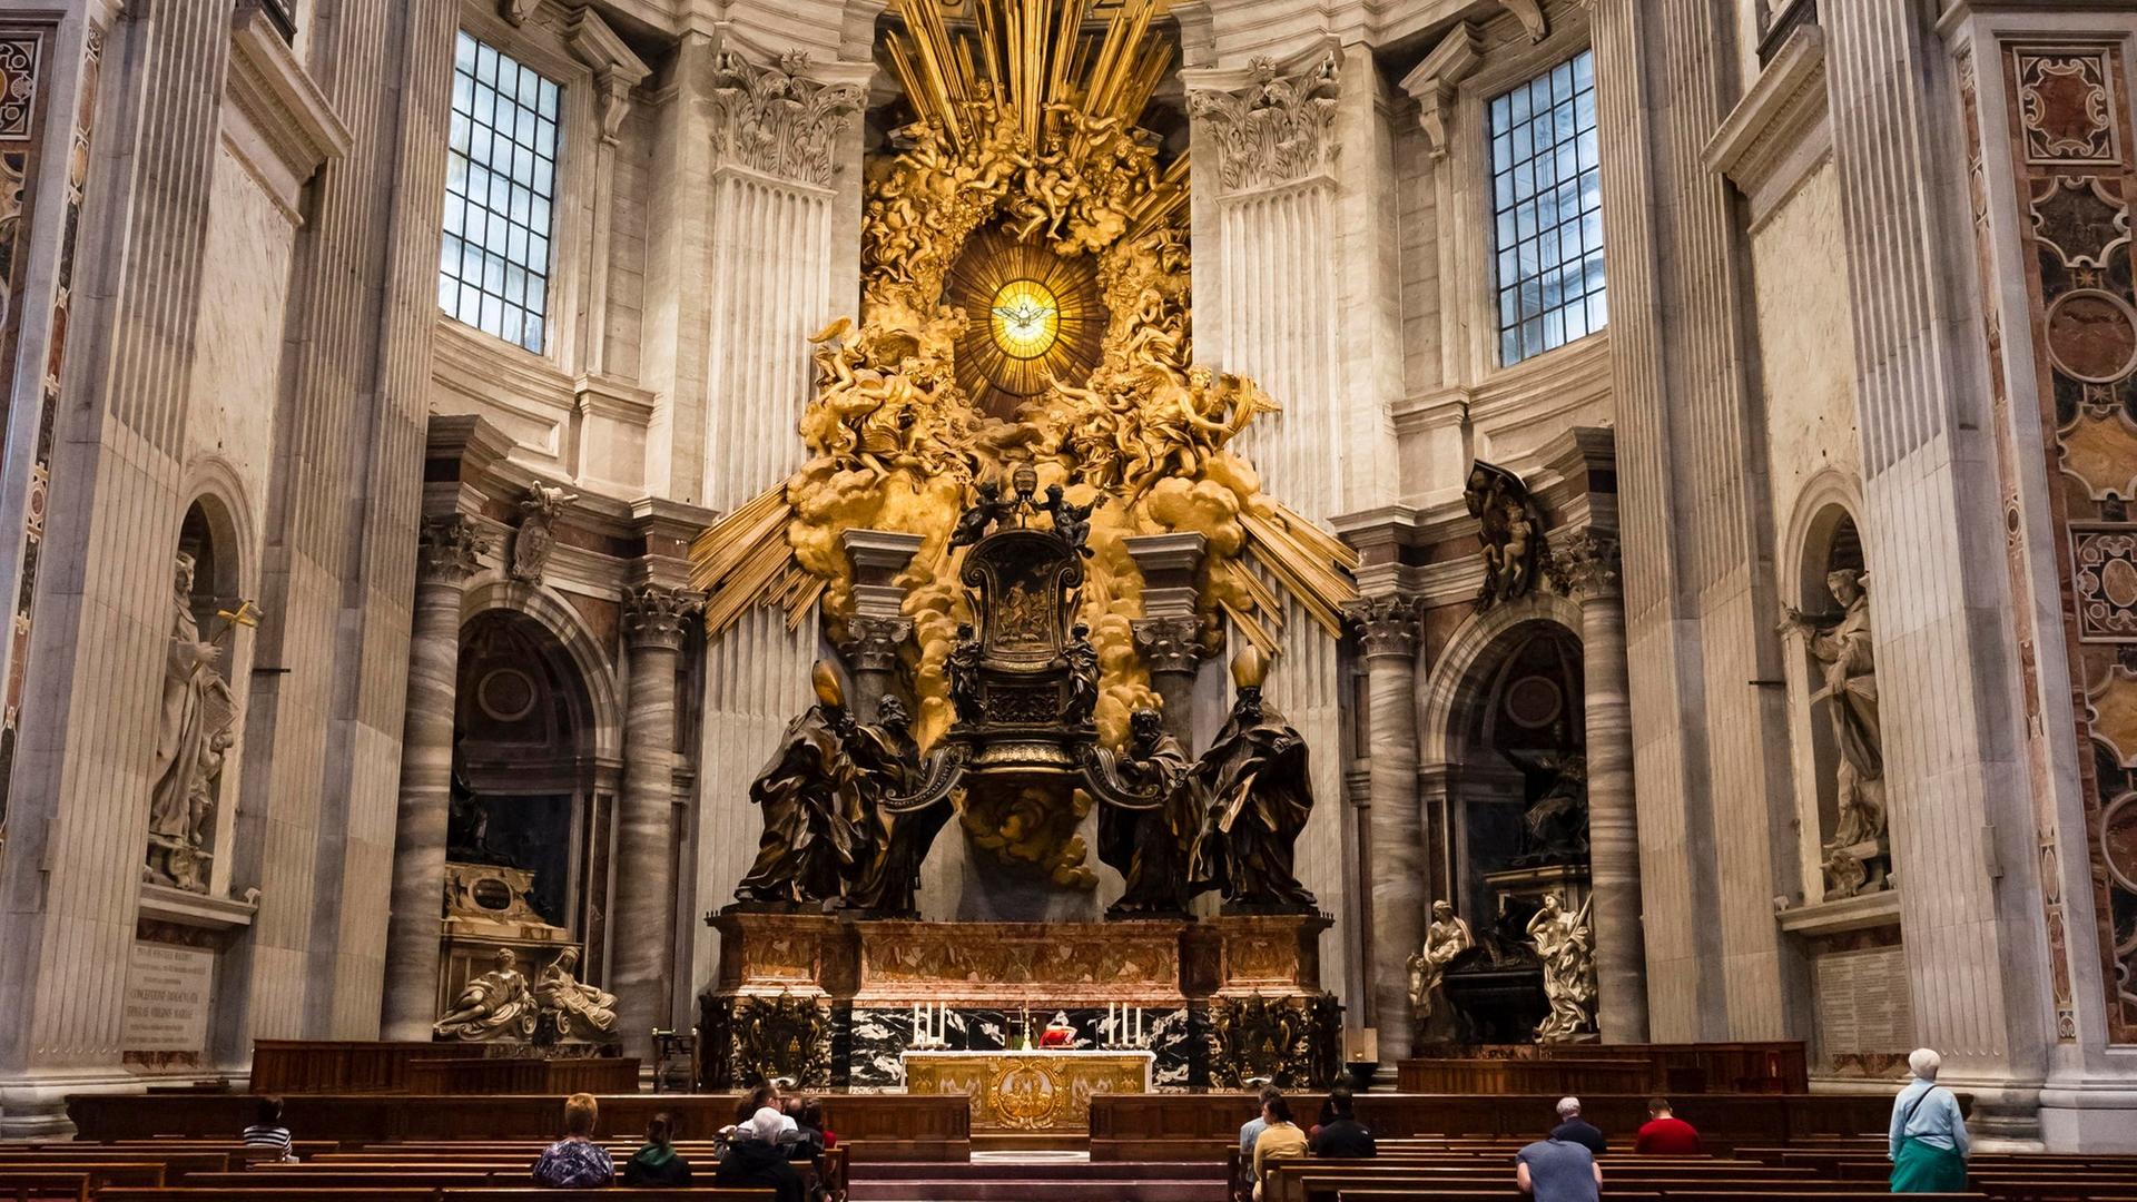
<instances>
[{"instance_id":1,"label":"dark arched recess behind the tomb monument on the left","mask_svg":"<svg viewBox=\"0 0 2137 1202\"><path fill-rule=\"evenodd\" d=\"M586 881L592 802L592 697L564 644L528 614L472 616L459 637L447 858L532 873L532 909L592 943L607 892ZM586 975L596 967L590 945Z\"/></svg>"}]
</instances>

